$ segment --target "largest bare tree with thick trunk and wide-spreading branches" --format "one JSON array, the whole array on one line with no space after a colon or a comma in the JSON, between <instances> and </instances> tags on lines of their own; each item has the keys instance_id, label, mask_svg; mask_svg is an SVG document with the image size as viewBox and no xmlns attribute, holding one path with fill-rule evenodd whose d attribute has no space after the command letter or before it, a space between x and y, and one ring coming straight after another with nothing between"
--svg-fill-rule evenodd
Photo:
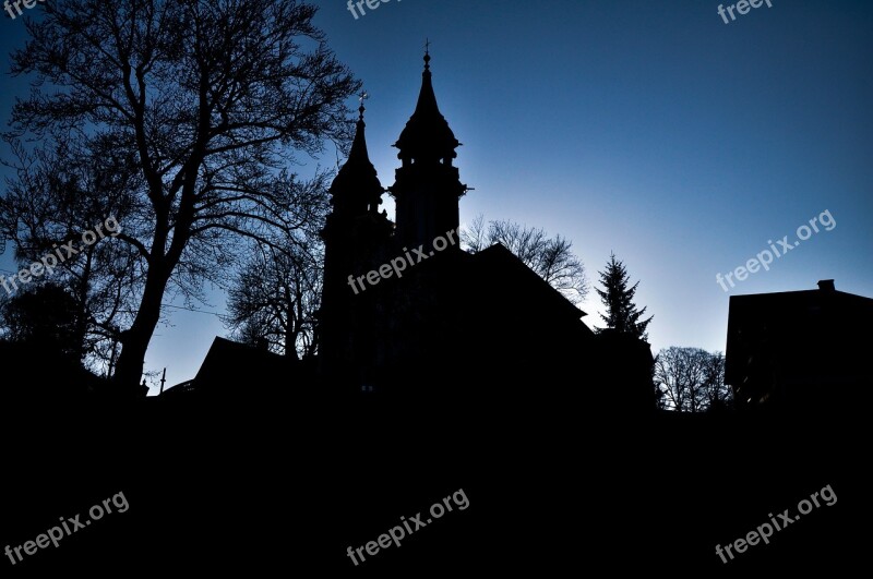
<instances>
[{"instance_id":1,"label":"largest bare tree with thick trunk and wide-spreading branches","mask_svg":"<svg viewBox=\"0 0 873 579\"><path fill-rule=\"evenodd\" d=\"M116 381L134 388L168 289L200 295L240 237L272 244L298 227L277 168L325 140L349 141L359 82L292 0L48 2L26 22L13 74L35 74L12 112L14 141L65 133L93 155L136 160L141 183L117 239L143 278L121 333ZM43 91L41 85L51 91Z\"/></svg>"}]
</instances>

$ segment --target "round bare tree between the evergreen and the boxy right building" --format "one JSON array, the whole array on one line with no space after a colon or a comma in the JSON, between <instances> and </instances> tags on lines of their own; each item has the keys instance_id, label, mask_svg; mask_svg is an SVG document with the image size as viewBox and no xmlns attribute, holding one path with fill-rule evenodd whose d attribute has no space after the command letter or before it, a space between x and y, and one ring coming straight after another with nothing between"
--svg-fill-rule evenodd
<instances>
[{"instance_id":1,"label":"round bare tree between the evergreen and the boxy right building","mask_svg":"<svg viewBox=\"0 0 873 579\"><path fill-rule=\"evenodd\" d=\"M660 403L668 410L704 412L730 400L721 352L666 348L655 358L655 384Z\"/></svg>"}]
</instances>

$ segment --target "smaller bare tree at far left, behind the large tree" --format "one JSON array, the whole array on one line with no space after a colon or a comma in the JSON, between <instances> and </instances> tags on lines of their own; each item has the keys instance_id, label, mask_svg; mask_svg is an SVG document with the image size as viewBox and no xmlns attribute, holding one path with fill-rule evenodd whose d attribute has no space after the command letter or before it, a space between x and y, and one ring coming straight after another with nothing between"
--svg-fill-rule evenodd
<instances>
[{"instance_id":1,"label":"smaller bare tree at far left, behind the large tree","mask_svg":"<svg viewBox=\"0 0 873 579\"><path fill-rule=\"evenodd\" d=\"M45 285L69 288L79 336L76 358L92 370L109 372L118 326L132 319L134 289L142 278L140 258L131 245L111 236L101 233L104 239L85 244L81 234L108 218L127 220L129 192L136 188L134 164L115 155L89 156L62 140L32 152L13 142L13 156L4 161L15 178L7 180L0 198L0 237L13 241L22 267L47 256L52 256L47 263L56 262L41 277L26 285L19 280L19 291ZM69 243L76 254L57 260L57 249Z\"/></svg>"}]
</instances>

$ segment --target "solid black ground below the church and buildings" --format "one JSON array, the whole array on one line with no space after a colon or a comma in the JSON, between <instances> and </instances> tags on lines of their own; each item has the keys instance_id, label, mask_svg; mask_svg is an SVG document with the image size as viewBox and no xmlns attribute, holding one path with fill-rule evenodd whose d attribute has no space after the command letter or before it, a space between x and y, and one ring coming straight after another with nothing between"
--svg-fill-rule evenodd
<instances>
[{"instance_id":1,"label":"solid black ground below the church and buildings","mask_svg":"<svg viewBox=\"0 0 873 579\"><path fill-rule=\"evenodd\" d=\"M129 508L57 547L22 550L15 565L3 555L2 575L840 577L869 552L869 421L584 406L455 394L394 405L277 396L3 408L0 548L62 518L84 522L118 493ZM786 509L794 519L827 485L833 506L817 498L769 544L727 564L716 554ZM453 508L431 511L434 503ZM391 530L405 535L399 546L380 547ZM349 546L362 547L357 566Z\"/></svg>"}]
</instances>

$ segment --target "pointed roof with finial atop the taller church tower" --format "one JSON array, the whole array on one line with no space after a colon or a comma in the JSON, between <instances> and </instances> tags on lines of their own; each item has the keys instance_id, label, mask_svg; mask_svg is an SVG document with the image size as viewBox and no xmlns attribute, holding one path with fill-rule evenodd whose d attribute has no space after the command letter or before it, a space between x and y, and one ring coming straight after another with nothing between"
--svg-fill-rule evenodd
<instances>
[{"instance_id":1,"label":"pointed roof with finial atop the taller church tower","mask_svg":"<svg viewBox=\"0 0 873 579\"><path fill-rule=\"evenodd\" d=\"M416 110L406 123L400 137L394 144L399 149L399 159L453 159L455 148L461 145L455 138L449 122L440 112L436 95L433 93L430 73L430 53L424 52L424 71L421 73L421 92L418 94Z\"/></svg>"}]
</instances>

